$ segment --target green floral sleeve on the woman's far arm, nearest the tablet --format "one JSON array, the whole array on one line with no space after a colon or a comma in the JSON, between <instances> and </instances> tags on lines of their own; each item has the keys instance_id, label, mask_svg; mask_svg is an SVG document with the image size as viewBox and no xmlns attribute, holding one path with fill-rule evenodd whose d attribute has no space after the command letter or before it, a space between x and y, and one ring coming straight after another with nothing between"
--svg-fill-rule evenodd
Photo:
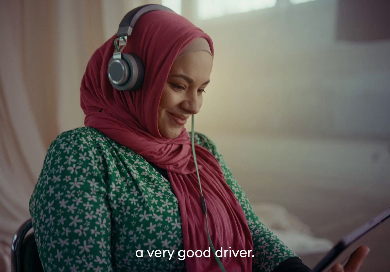
<instances>
[{"instance_id":1,"label":"green floral sleeve on the woman's far arm, nearest the tablet","mask_svg":"<svg viewBox=\"0 0 390 272\"><path fill-rule=\"evenodd\" d=\"M215 143L199 132L195 133L194 141L195 140L197 140L199 145L207 148L211 154L215 156L222 168L227 184L230 189L232 189L244 210L254 246L252 271L271 272L275 270L282 261L290 257L298 257L272 231L260 222L259 217L255 214L243 189L233 177L230 168L226 166L222 155L217 152Z\"/></svg>"}]
</instances>

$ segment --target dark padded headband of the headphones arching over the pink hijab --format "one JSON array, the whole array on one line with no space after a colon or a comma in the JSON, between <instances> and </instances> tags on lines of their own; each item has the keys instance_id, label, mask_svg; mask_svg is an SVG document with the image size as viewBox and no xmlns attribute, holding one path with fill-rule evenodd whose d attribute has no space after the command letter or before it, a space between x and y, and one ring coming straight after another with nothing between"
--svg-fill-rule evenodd
<instances>
[{"instance_id":1,"label":"dark padded headband of the headphones arching over the pink hijab","mask_svg":"<svg viewBox=\"0 0 390 272\"><path fill-rule=\"evenodd\" d=\"M133 31L135 22L144 15L145 13L149 11L172 11L172 9L165 7L163 5L158 5L158 4L148 4L148 5L143 5L140 7L137 7L126 14L121 23L119 24L118 32L117 32L117 37L121 37L124 35L131 35L131 32ZM176 13L176 12L174 12Z\"/></svg>"}]
</instances>

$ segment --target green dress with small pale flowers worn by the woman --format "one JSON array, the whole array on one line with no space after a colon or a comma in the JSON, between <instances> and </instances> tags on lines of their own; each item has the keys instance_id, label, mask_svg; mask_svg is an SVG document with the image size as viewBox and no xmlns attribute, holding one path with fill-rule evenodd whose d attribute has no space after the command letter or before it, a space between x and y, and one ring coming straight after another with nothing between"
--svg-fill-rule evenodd
<instances>
[{"instance_id":1,"label":"green dress with small pale flowers worn by the woman","mask_svg":"<svg viewBox=\"0 0 390 272\"><path fill-rule=\"evenodd\" d=\"M243 207L254 243L253 271L270 272L298 257L259 221L213 141L199 132L194 138L216 157ZM169 180L141 155L92 127L63 132L51 143L30 214L46 272L186 270L177 254L136 256L137 250L184 249Z\"/></svg>"}]
</instances>

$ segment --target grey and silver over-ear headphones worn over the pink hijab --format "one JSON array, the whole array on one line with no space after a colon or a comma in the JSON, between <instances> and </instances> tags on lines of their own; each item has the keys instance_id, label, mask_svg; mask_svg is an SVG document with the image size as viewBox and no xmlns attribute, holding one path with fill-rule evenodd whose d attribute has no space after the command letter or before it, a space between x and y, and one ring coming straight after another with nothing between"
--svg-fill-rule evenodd
<instances>
[{"instance_id":1,"label":"grey and silver over-ear headphones worn over the pink hijab","mask_svg":"<svg viewBox=\"0 0 390 272\"><path fill-rule=\"evenodd\" d=\"M145 76L142 60L135 53L122 53L122 50L126 47L127 37L131 35L137 20L147 12L158 10L174 12L163 5L143 5L129 11L119 24L118 38L114 40L115 52L108 62L107 68L108 78L115 89L135 92L142 87Z\"/></svg>"}]
</instances>

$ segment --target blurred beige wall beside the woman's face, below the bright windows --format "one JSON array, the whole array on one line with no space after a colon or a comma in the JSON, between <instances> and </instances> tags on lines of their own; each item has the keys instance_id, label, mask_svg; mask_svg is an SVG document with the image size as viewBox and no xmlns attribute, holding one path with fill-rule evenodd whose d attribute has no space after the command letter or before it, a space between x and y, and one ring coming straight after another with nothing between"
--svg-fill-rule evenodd
<instances>
[{"instance_id":1,"label":"blurred beige wall beside the woman's face, below the bright windows","mask_svg":"<svg viewBox=\"0 0 390 272\"><path fill-rule=\"evenodd\" d=\"M336 16L317 0L199 21L215 58L195 127L388 139L390 41L336 41Z\"/></svg>"}]
</instances>

